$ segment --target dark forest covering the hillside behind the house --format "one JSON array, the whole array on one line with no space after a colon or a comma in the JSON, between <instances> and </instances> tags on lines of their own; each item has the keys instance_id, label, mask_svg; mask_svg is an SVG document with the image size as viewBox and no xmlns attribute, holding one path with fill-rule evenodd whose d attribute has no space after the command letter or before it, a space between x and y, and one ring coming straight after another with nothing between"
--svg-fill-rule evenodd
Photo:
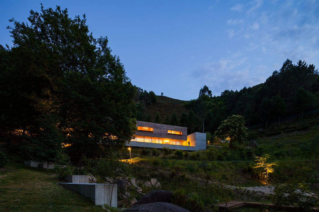
<instances>
[{"instance_id":1,"label":"dark forest covering the hillside behind the house","mask_svg":"<svg viewBox=\"0 0 319 212\"><path fill-rule=\"evenodd\" d=\"M155 116L149 115L148 107L140 104L147 97L145 92L137 89L137 120L188 127L188 133L202 132L204 123L204 132L214 134L221 122L232 114L244 116L246 127L264 125L267 128L269 122L280 124L283 117L296 114L303 118L304 112L318 109L319 75L315 65L301 60L295 65L287 59L279 71L274 71L264 83L253 87L244 87L240 91L225 90L220 96L212 96L204 85L197 99L183 103L185 111L180 115L174 108L167 108L173 111L168 116L156 112L152 113L156 113ZM146 99L149 105L157 104L154 97Z\"/></svg>"}]
</instances>

